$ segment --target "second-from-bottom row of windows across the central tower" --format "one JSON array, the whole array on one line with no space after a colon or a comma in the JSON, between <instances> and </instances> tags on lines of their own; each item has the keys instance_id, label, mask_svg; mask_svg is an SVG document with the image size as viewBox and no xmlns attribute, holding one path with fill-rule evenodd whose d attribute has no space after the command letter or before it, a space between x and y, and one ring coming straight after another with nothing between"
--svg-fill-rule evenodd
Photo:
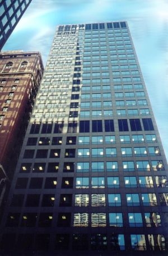
<instances>
[{"instance_id":1,"label":"second-from-bottom row of windows across the central tower","mask_svg":"<svg viewBox=\"0 0 168 256\"><path fill-rule=\"evenodd\" d=\"M103 195L100 195L102 198ZM94 203L93 203L94 204ZM102 203L103 204L103 203ZM100 204L100 206L104 206ZM94 205L93 205L94 206ZM58 220L60 221L58 213ZM38 216L39 215L39 216ZM69 214L67 214L69 216ZM65 216L65 217L67 217ZM165 214L166 222L166 214ZM9 213L6 221L7 227L35 227L36 222L38 222L39 227L50 227L53 222L53 213ZM71 221L71 218L69 218ZM144 220L143 220L144 219ZM68 221L68 222L69 222ZM63 224L63 221L61 221ZM125 223L124 223L125 222ZM120 213L120 212L110 212L110 213L74 213L72 214L72 226L73 227L125 227L129 222L129 227L160 227L162 226L160 213L158 212L145 212L142 213ZM66 223L66 221L64 221ZM57 226L60 222L57 223ZM69 223L71 225L71 223Z\"/></svg>"}]
</instances>

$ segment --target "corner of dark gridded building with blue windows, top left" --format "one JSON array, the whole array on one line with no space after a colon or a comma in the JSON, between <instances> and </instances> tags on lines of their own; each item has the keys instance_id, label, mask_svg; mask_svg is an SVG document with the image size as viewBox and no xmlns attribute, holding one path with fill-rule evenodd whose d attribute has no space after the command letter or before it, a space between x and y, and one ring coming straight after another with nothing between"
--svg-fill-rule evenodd
<instances>
[{"instance_id":1,"label":"corner of dark gridded building with blue windows, top left","mask_svg":"<svg viewBox=\"0 0 168 256\"><path fill-rule=\"evenodd\" d=\"M2 0L0 3L0 51L31 0Z\"/></svg>"}]
</instances>

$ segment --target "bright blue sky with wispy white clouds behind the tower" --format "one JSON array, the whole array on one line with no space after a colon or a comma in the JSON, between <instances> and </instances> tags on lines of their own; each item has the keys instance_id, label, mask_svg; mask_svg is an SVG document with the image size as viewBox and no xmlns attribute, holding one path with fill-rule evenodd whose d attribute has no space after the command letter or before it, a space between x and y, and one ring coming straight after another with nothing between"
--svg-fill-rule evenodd
<instances>
[{"instance_id":1,"label":"bright blue sky with wispy white clouds behind the tower","mask_svg":"<svg viewBox=\"0 0 168 256\"><path fill-rule=\"evenodd\" d=\"M167 0L32 0L4 51L39 51L44 64L60 24L128 21L168 159Z\"/></svg>"}]
</instances>

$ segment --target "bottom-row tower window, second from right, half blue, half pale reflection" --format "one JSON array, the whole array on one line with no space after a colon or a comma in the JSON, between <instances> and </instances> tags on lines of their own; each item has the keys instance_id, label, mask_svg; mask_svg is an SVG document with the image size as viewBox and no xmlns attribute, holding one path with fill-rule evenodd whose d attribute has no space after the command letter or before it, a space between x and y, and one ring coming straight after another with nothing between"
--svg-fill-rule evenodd
<instances>
[{"instance_id":1,"label":"bottom-row tower window, second from right, half blue, half pale reflection","mask_svg":"<svg viewBox=\"0 0 168 256\"><path fill-rule=\"evenodd\" d=\"M132 250L146 250L144 235L130 235Z\"/></svg>"}]
</instances>

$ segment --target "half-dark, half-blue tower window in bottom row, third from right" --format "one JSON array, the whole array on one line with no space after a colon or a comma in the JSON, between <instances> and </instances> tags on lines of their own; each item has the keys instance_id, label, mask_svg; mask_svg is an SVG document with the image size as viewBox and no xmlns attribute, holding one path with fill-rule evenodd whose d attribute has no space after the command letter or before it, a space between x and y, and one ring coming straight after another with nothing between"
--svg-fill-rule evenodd
<instances>
[{"instance_id":1,"label":"half-dark, half-blue tower window in bottom row, third from right","mask_svg":"<svg viewBox=\"0 0 168 256\"><path fill-rule=\"evenodd\" d=\"M125 242L123 234L110 234L110 249L113 251L116 250L125 250Z\"/></svg>"}]
</instances>

